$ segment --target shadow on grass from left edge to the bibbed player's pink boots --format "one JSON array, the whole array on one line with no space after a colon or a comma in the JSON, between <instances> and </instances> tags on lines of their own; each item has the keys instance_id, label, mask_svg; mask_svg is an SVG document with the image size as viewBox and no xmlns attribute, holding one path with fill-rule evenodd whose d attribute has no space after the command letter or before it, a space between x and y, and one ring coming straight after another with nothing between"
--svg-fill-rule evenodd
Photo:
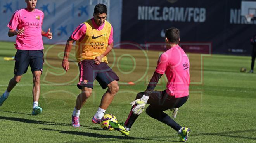
<instances>
[{"instance_id":1,"label":"shadow on grass from left edge to the bibbed player's pink boots","mask_svg":"<svg viewBox=\"0 0 256 143\"><path fill-rule=\"evenodd\" d=\"M3 116L0 116L0 119L10 120L10 121L17 121L17 122L23 122L23 123L28 123L28 124L43 124L43 125L52 125L52 126L71 126L71 124L65 124L65 123L48 122L48 121L36 121L36 120L16 118L16 117L3 117ZM92 128L91 126L81 126L81 127ZM98 128L98 129L102 130L99 127L95 127L95 128Z\"/></svg>"}]
</instances>

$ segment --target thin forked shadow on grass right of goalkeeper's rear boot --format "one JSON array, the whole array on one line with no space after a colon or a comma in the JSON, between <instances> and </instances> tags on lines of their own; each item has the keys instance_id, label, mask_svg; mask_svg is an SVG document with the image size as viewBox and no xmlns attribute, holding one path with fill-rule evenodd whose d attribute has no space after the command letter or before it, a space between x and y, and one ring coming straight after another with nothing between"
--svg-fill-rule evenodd
<instances>
[{"instance_id":1,"label":"thin forked shadow on grass right of goalkeeper's rear boot","mask_svg":"<svg viewBox=\"0 0 256 143\"><path fill-rule=\"evenodd\" d=\"M256 140L256 138L253 138L253 137L230 135L230 134L234 134L234 133L244 133L244 132L254 132L255 133L256 129L228 131L228 132L220 132L220 133L198 133L198 134L192 134L191 136L216 135L216 136L225 136L225 137L232 137L232 138L242 138L242 139Z\"/></svg>"}]
</instances>

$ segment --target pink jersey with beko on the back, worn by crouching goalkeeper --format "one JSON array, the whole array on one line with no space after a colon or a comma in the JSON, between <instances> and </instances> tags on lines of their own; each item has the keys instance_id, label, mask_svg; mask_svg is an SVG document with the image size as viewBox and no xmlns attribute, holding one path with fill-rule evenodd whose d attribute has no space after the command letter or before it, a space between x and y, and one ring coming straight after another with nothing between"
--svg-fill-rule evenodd
<instances>
[{"instance_id":1,"label":"pink jersey with beko on the back, worn by crouching goalkeeper","mask_svg":"<svg viewBox=\"0 0 256 143\"><path fill-rule=\"evenodd\" d=\"M156 72L166 74L166 92L175 98L189 95L189 58L178 45L167 50L159 57Z\"/></svg>"}]
</instances>

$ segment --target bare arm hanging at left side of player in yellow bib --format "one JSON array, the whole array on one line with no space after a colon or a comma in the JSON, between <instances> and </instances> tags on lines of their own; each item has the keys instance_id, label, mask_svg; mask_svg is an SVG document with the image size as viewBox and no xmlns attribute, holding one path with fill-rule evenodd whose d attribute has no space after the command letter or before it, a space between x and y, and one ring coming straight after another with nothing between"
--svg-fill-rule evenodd
<instances>
[{"instance_id":1,"label":"bare arm hanging at left side of player in yellow bib","mask_svg":"<svg viewBox=\"0 0 256 143\"><path fill-rule=\"evenodd\" d=\"M69 39L67 40L66 46L65 46L64 56L63 56L63 60L62 60L62 67L65 71L69 70L68 57L69 57L69 53L72 49L72 45L74 42L75 42L75 40L72 39L71 37L69 37Z\"/></svg>"}]
</instances>

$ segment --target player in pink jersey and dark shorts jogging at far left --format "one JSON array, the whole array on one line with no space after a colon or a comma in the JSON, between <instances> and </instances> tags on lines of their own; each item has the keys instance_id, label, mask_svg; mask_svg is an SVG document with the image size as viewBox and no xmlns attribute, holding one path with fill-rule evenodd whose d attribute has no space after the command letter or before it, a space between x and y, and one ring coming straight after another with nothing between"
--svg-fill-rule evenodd
<instances>
[{"instance_id":1,"label":"player in pink jersey and dark shorts jogging at far left","mask_svg":"<svg viewBox=\"0 0 256 143\"><path fill-rule=\"evenodd\" d=\"M40 76L43 72L43 39L42 36L52 39L50 29L42 30L44 14L35 9L37 0L25 0L27 7L17 10L7 25L10 28L8 36L17 35L15 48L14 77L10 79L8 87L0 97L0 106L8 98L10 91L21 80L22 74L26 73L30 65L33 73L33 110L32 115L42 112L38 106L40 96ZM16 31L16 29L18 29Z\"/></svg>"}]
</instances>

